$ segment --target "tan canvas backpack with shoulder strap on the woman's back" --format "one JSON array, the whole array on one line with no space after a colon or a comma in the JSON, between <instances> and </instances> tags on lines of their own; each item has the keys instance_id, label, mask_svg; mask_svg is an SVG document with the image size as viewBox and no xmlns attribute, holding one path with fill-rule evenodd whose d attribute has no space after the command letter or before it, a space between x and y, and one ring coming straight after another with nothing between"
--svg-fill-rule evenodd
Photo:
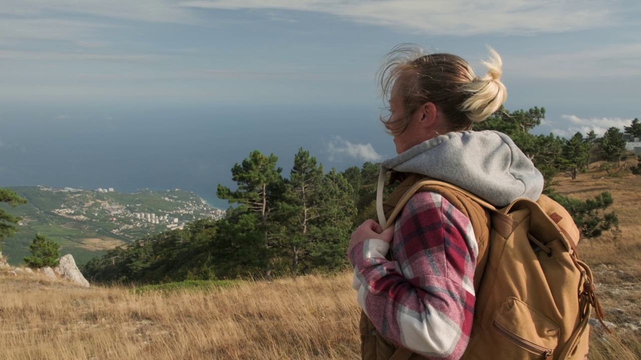
<instances>
[{"instance_id":1,"label":"tan canvas backpack with shoulder strap on the woman's back","mask_svg":"<svg viewBox=\"0 0 641 360\"><path fill-rule=\"evenodd\" d=\"M603 312L567 210L545 195L497 209L462 188L423 179L394 200L385 228L419 191L440 193L462 210L479 241L474 320L462 359L587 359L592 307L599 320ZM410 357L416 355L399 348L391 358Z\"/></svg>"}]
</instances>

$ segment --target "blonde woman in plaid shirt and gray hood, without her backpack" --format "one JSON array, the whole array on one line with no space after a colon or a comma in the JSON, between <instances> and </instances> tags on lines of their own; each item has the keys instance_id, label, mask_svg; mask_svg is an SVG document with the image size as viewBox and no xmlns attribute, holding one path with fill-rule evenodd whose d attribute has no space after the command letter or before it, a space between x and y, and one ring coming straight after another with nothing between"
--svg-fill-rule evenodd
<instances>
[{"instance_id":1,"label":"blonde woman in plaid shirt and gray hood, without her backpack","mask_svg":"<svg viewBox=\"0 0 641 360\"><path fill-rule=\"evenodd\" d=\"M391 112L381 121L398 155L381 165L381 224L360 225L347 250L365 315L363 359L389 359L397 347L416 358L459 359L474 316L479 250L469 218L439 193L419 192L383 231L388 170L400 179L429 176L454 184L497 207L519 197L537 200L542 191L540 172L508 136L471 131L507 97L501 58L490 53L489 71L480 78L456 55L411 47L397 47L381 67Z\"/></svg>"}]
</instances>

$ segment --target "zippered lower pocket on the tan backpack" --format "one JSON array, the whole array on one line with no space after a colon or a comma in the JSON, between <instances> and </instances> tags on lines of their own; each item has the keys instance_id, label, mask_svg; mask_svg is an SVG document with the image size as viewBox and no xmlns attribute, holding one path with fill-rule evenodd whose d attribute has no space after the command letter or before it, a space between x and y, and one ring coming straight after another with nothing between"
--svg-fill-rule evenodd
<instances>
[{"instance_id":1,"label":"zippered lower pocket on the tan backpack","mask_svg":"<svg viewBox=\"0 0 641 360\"><path fill-rule=\"evenodd\" d=\"M526 303L508 298L494 311L470 358L552 360L559 327Z\"/></svg>"}]
</instances>

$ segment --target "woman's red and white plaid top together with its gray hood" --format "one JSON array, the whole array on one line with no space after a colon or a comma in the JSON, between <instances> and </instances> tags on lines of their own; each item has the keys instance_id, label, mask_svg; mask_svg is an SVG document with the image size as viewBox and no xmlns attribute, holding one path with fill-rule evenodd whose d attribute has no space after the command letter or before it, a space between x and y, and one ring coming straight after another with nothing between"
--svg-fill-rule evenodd
<instances>
[{"instance_id":1,"label":"woman's red and white plaid top together with its gray hood","mask_svg":"<svg viewBox=\"0 0 641 360\"><path fill-rule=\"evenodd\" d=\"M385 224L383 186L389 170L454 184L490 204L537 200L543 177L509 136L497 131L447 133L381 164L377 194ZM357 300L376 329L398 346L429 359L458 359L474 315L478 246L469 218L438 193L420 192L404 206L390 244L365 240L349 254Z\"/></svg>"}]
</instances>

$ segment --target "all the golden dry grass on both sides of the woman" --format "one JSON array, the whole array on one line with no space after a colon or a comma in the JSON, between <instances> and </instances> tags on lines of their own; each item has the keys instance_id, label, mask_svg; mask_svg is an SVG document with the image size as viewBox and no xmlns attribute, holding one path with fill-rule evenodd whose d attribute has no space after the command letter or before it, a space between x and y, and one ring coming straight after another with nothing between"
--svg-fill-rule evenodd
<instances>
[{"instance_id":1,"label":"all the golden dry grass on both sides of the woman","mask_svg":"<svg viewBox=\"0 0 641 360\"><path fill-rule=\"evenodd\" d=\"M612 335L593 331L590 359L640 359L641 177L559 179L559 192L615 197L622 235L579 244ZM597 177L598 174L597 174ZM243 282L233 288L136 295L0 273L0 359L358 359L351 275Z\"/></svg>"}]
</instances>

